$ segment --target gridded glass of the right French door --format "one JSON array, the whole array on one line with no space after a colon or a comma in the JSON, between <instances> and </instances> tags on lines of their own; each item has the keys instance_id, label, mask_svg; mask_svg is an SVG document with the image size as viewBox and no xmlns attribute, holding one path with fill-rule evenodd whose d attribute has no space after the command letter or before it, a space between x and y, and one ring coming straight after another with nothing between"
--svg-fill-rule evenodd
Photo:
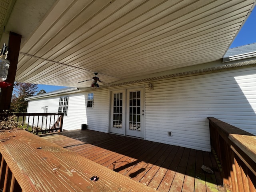
<instances>
[{"instance_id":1,"label":"gridded glass of the right French door","mask_svg":"<svg viewBox=\"0 0 256 192\"><path fill-rule=\"evenodd\" d=\"M140 91L130 92L129 130L140 131Z\"/></svg>"}]
</instances>

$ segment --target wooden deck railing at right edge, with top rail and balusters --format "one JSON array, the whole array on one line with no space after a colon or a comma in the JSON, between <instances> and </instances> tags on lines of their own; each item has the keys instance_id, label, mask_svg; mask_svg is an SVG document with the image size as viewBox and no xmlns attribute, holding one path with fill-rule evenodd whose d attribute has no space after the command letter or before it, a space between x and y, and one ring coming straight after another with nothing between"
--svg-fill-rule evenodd
<instances>
[{"instance_id":1,"label":"wooden deck railing at right edge, with top rail and balusters","mask_svg":"<svg viewBox=\"0 0 256 192\"><path fill-rule=\"evenodd\" d=\"M256 192L256 136L209 117L210 140L226 191Z\"/></svg>"}]
</instances>

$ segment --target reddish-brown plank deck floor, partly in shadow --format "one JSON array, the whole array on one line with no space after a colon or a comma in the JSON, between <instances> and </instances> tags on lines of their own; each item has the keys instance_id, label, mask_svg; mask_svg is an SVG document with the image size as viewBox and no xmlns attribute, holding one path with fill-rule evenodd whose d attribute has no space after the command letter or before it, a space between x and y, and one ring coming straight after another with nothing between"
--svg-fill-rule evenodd
<instances>
[{"instance_id":1,"label":"reddish-brown plank deck floor, partly in shadow","mask_svg":"<svg viewBox=\"0 0 256 192\"><path fill-rule=\"evenodd\" d=\"M210 152L92 130L65 131L42 138L158 191L224 191ZM214 174L204 172L202 165Z\"/></svg>"}]
</instances>

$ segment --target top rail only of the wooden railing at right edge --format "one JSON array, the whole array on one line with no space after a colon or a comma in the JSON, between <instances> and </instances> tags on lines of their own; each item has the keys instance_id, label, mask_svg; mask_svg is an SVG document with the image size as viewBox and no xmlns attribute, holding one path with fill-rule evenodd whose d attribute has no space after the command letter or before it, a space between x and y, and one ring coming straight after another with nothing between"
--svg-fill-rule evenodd
<instances>
[{"instance_id":1,"label":"top rail only of the wooden railing at right edge","mask_svg":"<svg viewBox=\"0 0 256 192\"><path fill-rule=\"evenodd\" d=\"M223 138L229 139L236 144L246 155L256 163L256 136L240 128L222 122L216 118L208 117L210 123L214 123L215 128Z\"/></svg>"}]
</instances>

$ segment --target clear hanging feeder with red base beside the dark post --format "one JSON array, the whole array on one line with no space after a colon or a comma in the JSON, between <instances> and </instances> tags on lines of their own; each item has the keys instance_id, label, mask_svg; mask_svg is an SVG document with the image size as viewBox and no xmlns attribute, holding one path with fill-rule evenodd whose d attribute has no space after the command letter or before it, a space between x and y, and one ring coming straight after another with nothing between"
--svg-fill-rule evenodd
<instances>
[{"instance_id":1,"label":"clear hanging feeder with red base beside the dark post","mask_svg":"<svg viewBox=\"0 0 256 192\"><path fill-rule=\"evenodd\" d=\"M4 82L8 75L8 69L10 62L7 60L7 47L6 44L3 45L0 53L0 88L10 86L10 83Z\"/></svg>"}]
</instances>

